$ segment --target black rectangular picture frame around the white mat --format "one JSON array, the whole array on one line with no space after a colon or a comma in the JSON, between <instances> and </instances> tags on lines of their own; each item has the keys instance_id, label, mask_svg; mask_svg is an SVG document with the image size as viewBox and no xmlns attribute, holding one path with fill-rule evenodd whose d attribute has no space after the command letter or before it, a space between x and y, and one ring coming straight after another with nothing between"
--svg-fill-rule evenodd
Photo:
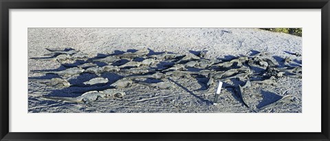
<instances>
[{"instance_id":1,"label":"black rectangular picture frame around the white mat","mask_svg":"<svg viewBox=\"0 0 330 141\"><path fill-rule=\"evenodd\" d=\"M329 0L0 0L1 140L330 140L329 138ZM320 133L12 133L9 132L9 10L78 8L321 9L322 129ZM308 122L308 121L306 121ZM284 127L283 127L284 128Z\"/></svg>"}]
</instances>

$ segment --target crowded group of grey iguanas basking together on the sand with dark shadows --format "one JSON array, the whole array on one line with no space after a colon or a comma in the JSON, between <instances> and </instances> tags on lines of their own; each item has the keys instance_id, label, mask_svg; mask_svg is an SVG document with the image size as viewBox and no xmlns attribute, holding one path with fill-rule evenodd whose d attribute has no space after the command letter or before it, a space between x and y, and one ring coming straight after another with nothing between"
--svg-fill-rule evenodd
<instances>
[{"instance_id":1,"label":"crowded group of grey iguanas basking together on the sand with dark shadows","mask_svg":"<svg viewBox=\"0 0 330 141\"><path fill-rule=\"evenodd\" d=\"M205 91L215 88L219 81L228 82L236 79L245 82L245 85L232 85L238 93L241 102L243 100L243 89L252 84L277 85L278 78L281 77L302 77L302 67L294 63L288 56L283 61L274 61L267 51L253 55L236 56L230 59L212 60L206 58L207 51L200 51L198 54L177 54L171 52L151 53L151 50L137 50L136 52L124 52L122 54L108 54L103 57L91 58L83 52L65 49L50 50L50 57L32 58L39 61L57 61L67 69L61 71L34 71L41 74L57 74L60 78L49 80L30 79L36 83L44 83L47 86L56 88L66 87L91 87L95 85L109 85L108 89L99 91L87 91L76 98L50 97L51 100L65 100L68 102L85 102L90 104L99 98L122 98L125 95L122 91L125 87L132 85L146 85L153 89L178 88L169 78L208 78L205 82ZM298 53L290 54L301 56ZM72 65L80 61L78 65ZM102 63L102 65L99 65ZM278 63L282 63L279 65ZM105 65L104 65L105 64ZM254 69L261 69L256 72ZM70 78L74 78L83 73L96 74L98 77L92 78L81 84L72 85ZM115 73L123 76L114 83L109 83L108 78L103 78L104 73ZM142 82L140 78L157 79L159 83ZM283 97L286 98L286 97Z\"/></svg>"}]
</instances>

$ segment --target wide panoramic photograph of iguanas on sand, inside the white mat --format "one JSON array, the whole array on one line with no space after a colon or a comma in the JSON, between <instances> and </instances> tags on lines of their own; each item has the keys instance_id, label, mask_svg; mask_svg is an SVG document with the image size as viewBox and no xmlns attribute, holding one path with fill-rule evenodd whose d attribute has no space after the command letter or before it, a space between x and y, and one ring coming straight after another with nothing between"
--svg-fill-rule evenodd
<instances>
[{"instance_id":1,"label":"wide panoramic photograph of iguanas on sand, inside the white mat","mask_svg":"<svg viewBox=\"0 0 330 141\"><path fill-rule=\"evenodd\" d=\"M29 113L302 113L302 28L28 28Z\"/></svg>"}]
</instances>

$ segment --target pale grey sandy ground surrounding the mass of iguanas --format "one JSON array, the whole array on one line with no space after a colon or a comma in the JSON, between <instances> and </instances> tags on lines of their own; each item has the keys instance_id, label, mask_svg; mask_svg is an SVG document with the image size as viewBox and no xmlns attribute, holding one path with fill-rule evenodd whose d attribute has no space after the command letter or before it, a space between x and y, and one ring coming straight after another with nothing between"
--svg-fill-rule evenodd
<instances>
[{"instance_id":1,"label":"pale grey sandy ground surrounding the mass of iguanas","mask_svg":"<svg viewBox=\"0 0 330 141\"><path fill-rule=\"evenodd\" d=\"M149 48L154 52L175 52L190 54L190 51L208 50L210 59L230 59L234 56L249 55L251 50L267 49L280 65L287 52L302 53L302 38L289 34L268 32L254 28L29 28L28 29L28 76L29 78L51 78L32 70L65 69L60 63L36 61L32 57L49 54L45 48L64 50L72 47L87 53L90 57L111 54L115 50L141 50ZM286 52L285 52L286 51ZM301 56L296 57L301 64ZM85 74L84 74L85 75ZM88 80L95 76L85 75L72 78L70 83ZM111 82L113 74L107 76ZM122 89L126 92L123 100L104 99L93 105L45 100L41 96L76 97L72 89L56 89L39 83L29 82L28 111L35 112L104 112L104 113L213 113L213 112L302 112L302 80L280 78L278 85L254 85L247 89L243 98L250 106L245 107L232 91L223 89L217 105L212 105L214 91L195 91L203 87L197 79L173 78L185 89L163 89L154 91L150 87L134 85ZM203 81L203 80L199 80ZM207 82L207 80L206 80ZM84 88L85 89L85 88ZM294 101L285 105L262 109L287 94Z\"/></svg>"}]
</instances>

